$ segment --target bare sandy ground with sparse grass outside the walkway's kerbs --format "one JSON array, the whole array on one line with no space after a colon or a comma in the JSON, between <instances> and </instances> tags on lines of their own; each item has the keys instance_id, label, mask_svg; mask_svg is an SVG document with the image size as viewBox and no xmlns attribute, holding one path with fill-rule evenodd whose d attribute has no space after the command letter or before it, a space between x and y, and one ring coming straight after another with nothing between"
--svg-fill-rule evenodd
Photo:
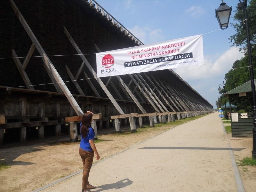
<instances>
[{"instance_id":1,"label":"bare sandy ground with sparse grass outside the walkway's kerbs","mask_svg":"<svg viewBox=\"0 0 256 192\"><path fill-rule=\"evenodd\" d=\"M98 131L98 138L104 141L96 143L100 159L117 154L173 127L168 124L158 128L142 128L132 134L127 131L121 134L111 133L114 130ZM252 138L227 137L232 148L244 148L233 151L237 161L251 156ZM69 137L54 137L44 141L47 142L0 149L0 163L11 166L0 170L0 191L33 191L82 169L78 155L79 142L70 143ZM256 168L239 167L239 171L245 191L253 191L256 188Z\"/></svg>"}]
</instances>

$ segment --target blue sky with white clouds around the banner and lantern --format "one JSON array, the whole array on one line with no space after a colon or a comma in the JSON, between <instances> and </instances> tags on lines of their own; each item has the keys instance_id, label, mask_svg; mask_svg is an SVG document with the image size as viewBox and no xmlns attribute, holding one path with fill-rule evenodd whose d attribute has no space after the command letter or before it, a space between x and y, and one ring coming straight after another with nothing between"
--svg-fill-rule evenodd
<instances>
[{"instance_id":1,"label":"blue sky with white clouds around the banner and lantern","mask_svg":"<svg viewBox=\"0 0 256 192\"><path fill-rule=\"evenodd\" d=\"M229 25L218 30L215 9L220 0L96 1L144 44L204 34L204 65L173 70L216 108L219 84L223 85L234 61L243 57L228 40L236 33L234 28ZM232 6L230 22L234 23L232 16L239 1L224 2Z\"/></svg>"}]
</instances>

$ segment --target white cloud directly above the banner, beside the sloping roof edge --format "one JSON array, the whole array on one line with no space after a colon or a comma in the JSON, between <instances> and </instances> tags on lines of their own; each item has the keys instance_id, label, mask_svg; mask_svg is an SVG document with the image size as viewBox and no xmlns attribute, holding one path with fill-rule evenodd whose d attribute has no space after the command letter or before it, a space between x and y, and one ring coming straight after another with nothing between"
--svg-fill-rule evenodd
<instances>
[{"instance_id":1,"label":"white cloud directly above the banner, beside the sloping roof edge","mask_svg":"<svg viewBox=\"0 0 256 192\"><path fill-rule=\"evenodd\" d=\"M150 44L163 41L163 31L161 29L152 29L149 27L140 27L135 25L133 28L128 28L131 33L136 36L142 43Z\"/></svg>"}]
</instances>

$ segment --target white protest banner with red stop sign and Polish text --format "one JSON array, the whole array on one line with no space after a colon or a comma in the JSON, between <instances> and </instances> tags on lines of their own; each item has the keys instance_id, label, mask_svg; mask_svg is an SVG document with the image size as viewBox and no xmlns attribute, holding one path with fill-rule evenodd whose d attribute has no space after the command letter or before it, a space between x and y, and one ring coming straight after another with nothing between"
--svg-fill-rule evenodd
<instances>
[{"instance_id":1,"label":"white protest banner with red stop sign and Polish text","mask_svg":"<svg viewBox=\"0 0 256 192\"><path fill-rule=\"evenodd\" d=\"M202 65L203 36L100 52L96 61L97 77Z\"/></svg>"}]
</instances>

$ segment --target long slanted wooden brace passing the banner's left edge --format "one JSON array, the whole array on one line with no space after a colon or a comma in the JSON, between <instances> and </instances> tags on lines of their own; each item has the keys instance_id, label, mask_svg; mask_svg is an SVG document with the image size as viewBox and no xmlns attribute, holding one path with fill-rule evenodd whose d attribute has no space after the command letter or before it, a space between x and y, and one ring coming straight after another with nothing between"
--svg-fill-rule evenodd
<instances>
[{"instance_id":1,"label":"long slanted wooden brace passing the banner's left edge","mask_svg":"<svg viewBox=\"0 0 256 192\"><path fill-rule=\"evenodd\" d=\"M107 87L104 85L104 83L101 81L100 78L97 77L97 73L94 71L94 69L92 68L92 66L90 65L90 63L87 61L87 59L84 57L83 52L79 49L79 47L77 46L76 42L74 41L74 39L72 38L72 36L68 33L68 30L64 27L64 32L66 34L66 36L68 37L70 43L74 46L74 48L76 49L76 51L78 52L78 54L80 55L81 59L84 61L85 65L87 66L87 68L90 70L90 72L92 73L93 77L95 77L95 79L98 81L98 83L100 84L101 88L104 90L104 92L106 93L106 95L108 96L108 98L111 100L111 102L113 103L113 105L115 106L116 110L120 113L120 114L124 114L124 111L122 110L122 108L118 105L118 103L116 102L116 100L114 99L114 97L111 95L111 93L108 91Z\"/></svg>"}]
</instances>

